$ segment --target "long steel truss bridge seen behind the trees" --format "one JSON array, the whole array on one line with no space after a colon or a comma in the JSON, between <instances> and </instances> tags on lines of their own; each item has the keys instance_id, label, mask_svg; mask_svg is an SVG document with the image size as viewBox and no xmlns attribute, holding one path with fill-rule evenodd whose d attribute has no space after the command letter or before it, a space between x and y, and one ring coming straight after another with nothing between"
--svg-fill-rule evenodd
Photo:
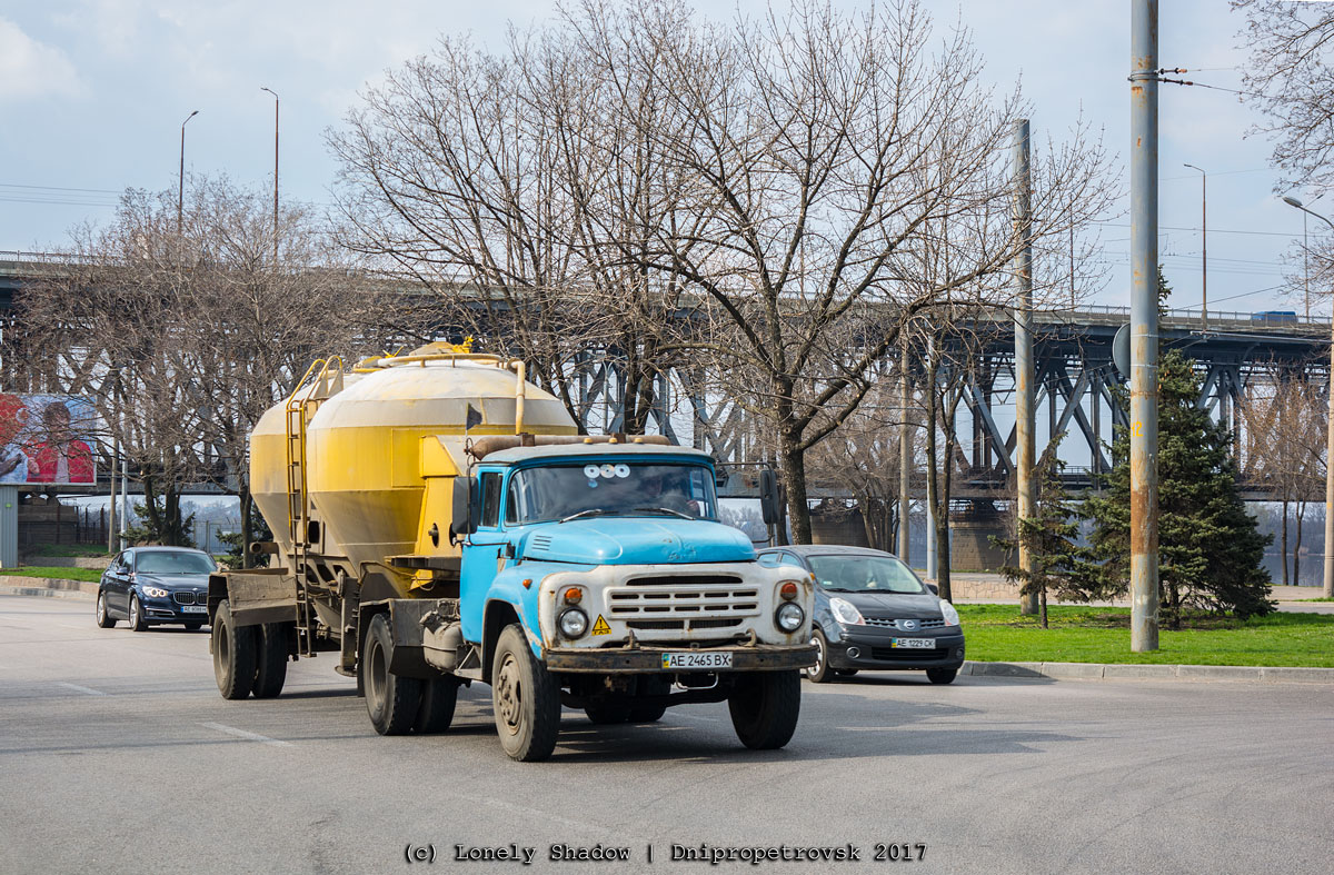
<instances>
[{"instance_id":1,"label":"long steel truss bridge seen behind the trees","mask_svg":"<svg viewBox=\"0 0 1334 875\"><path fill-rule=\"evenodd\" d=\"M44 272L59 271L59 256L0 252L0 331L13 327L13 296ZM1130 321L1129 308L1082 307L1035 313L1034 361L1037 444L1039 455L1053 435L1065 433L1059 455L1074 488L1095 483L1111 467L1107 444L1126 425L1115 391L1126 380L1113 361L1117 329ZM1330 383L1330 323L1291 313L1169 311L1159 324L1162 351L1181 349L1202 376L1199 404L1238 435L1245 433L1242 409L1249 393L1279 380L1307 381L1327 392ZM963 502L1005 499L1014 475L1014 325L995 320L980 332L986 341L975 353L963 383L955 420L959 447L952 459L951 494ZM0 355L5 352L0 336ZM623 429L626 379L616 355L600 348L580 351L567 371L576 419L584 431ZM883 379L898 380L890 361ZM0 380L9 387L11 369L0 361ZM56 391L56 387L51 387ZM892 393L895 397L896 392ZM920 415L918 416L920 417ZM655 377L650 428L678 443L710 452L730 476L723 495L754 495L754 476L764 462L764 425L734 399L708 388L698 365L675 367ZM890 436L895 440L895 436ZM1249 454L1247 454L1249 455ZM1246 498L1273 498L1259 466L1243 455ZM920 472L918 474L920 478ZM914 484L919 494L922 484ZM812 498L842 495L831 483L814 483ZM1307 496L1319 500L1319 496Z\"/></svg>"}]
</instances>

